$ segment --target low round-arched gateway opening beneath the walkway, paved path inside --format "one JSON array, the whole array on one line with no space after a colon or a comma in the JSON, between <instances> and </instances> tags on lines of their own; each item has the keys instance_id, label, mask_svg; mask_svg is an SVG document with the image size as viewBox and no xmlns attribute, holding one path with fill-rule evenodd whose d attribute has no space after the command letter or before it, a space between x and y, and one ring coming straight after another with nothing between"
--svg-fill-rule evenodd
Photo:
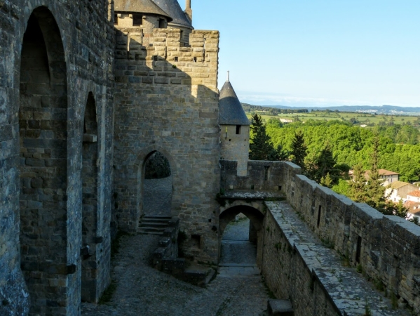
<instances>
[{"instance_id":1,"label":"low round-arched gateway opening beneath the walkway, paved path inside","mask_svg":"<svg viewBox=\"0 0 420 316\"><path fill-rule=\"evenodd\" d=\"M219 265L260 266L264 215L252 206L236 205L219 216Z\"/></svg>"}]
</instances>

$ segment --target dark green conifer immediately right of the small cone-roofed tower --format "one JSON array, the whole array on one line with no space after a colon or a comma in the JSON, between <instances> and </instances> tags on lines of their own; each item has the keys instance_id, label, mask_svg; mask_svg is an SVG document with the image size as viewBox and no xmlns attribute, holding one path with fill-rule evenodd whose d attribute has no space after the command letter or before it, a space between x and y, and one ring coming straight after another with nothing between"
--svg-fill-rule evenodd
<instances>
[{"instance_id":1,"label":"dark green conifer immediately right of the small cone-roofed tower","mask_svg":"<svg viewBox=\"0 0 420 316\"><path fill-rule=\"evenodd\" d=\"M251 118L250 159L251 160L278 160L278 152L266 133L266 126L262 117L253 114Z\"/></svg>"}]
</instances>

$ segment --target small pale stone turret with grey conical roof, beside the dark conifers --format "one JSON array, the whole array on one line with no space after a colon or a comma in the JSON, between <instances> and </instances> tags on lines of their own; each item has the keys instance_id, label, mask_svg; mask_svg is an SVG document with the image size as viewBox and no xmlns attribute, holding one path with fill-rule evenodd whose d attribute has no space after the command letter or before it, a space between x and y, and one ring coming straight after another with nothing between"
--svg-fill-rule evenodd
<instances>
[{"instance_id":1,"label":"small pale stone turret with grey conical roof, beside the dark conifers","mask_svg":"<svg viewBox=\"0 0 420 316\"><path fill-rule=\"evenodd\" d=\"M219 98L220 157L238 162L238 176L246 176L250 152L250 121L228 78Z\"/></svg>"}]
</instances>

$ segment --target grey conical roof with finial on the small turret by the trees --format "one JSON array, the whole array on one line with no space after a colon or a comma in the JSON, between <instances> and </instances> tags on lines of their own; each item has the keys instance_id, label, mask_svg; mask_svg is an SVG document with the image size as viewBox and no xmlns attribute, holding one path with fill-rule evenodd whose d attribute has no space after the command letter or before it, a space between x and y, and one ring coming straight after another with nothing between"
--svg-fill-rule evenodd
<instances>
[{"instance_id":1,"label":"grey conical roof with finial on the small turret by the trees","mask_svg":"<svg viewBox=\"0 0 420 316\"><path fill-rule=\"evenodd\" d=\"M228 78L224 83L219 96L219 124L220 125L250 125L250 120L236 96L233 86Z\"/></svg>"}]
</instances>

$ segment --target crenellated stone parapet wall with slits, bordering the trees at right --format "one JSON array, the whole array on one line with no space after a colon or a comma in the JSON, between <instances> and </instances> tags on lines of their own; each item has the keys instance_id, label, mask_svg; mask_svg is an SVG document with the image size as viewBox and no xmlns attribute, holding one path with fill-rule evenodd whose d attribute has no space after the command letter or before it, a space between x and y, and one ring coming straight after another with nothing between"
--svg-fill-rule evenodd
<instances>
[{"instance_id":1,"label":"crenellated stone parapet wall with slits, bordering the trees at right","mask_svg":"<svg viewBox=\"0 0 420 316\"><path fill-rule=\"evenodd\" d=\"M419 226L397 216L384 216L367 204L338 195L302 176L300 167L290 162L248 162L247 177L236 176L236 162L221 161L221 166L224 190L281 190L299 217L325 244L353 267L359 265L377 284L383 284L388 295L392 292L400 303L420 312ZM274 244L280 242L279 234ZM266 259L263 258L263 265L273 271L278 269L277 263L264 263Z\"/></svg>"}]
</instances>

